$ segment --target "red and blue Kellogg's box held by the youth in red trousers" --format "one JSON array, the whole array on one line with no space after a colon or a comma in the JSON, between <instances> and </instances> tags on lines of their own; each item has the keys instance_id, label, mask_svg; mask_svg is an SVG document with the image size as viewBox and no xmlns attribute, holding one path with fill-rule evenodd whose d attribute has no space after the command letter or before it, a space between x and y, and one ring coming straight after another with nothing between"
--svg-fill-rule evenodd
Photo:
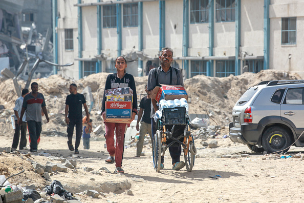
<instances>
[{"instance_id":1,"label":"red and blue Kellogg's box held by the youth in red trousers","mask_svg":"<svg viewBox=\"0 0 304 203\"><path fill-rule=\"evenodd\" d=\"M110 123L131 123L132 101L105 101L105 119Z\"/></svg>"}]
</instances>

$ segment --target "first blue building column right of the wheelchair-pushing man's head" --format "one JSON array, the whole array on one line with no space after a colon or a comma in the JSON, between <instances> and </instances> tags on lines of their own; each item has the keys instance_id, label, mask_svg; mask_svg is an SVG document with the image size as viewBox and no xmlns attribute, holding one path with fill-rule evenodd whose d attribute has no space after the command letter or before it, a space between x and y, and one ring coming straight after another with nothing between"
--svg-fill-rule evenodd
<instances>
[{"instance_id":1,"label":"first blue building column right of the wheelchair-pushing man's head","mask_svg":"<svg viewBox=\"0 0 304 203\"><path fill-rule=\"evenodd\" d=\"M188 56L189 48L189 0L183 4L183 56ZM189 60L183 60L185 78L189 78Z\"/></svg>"}]
</instances>

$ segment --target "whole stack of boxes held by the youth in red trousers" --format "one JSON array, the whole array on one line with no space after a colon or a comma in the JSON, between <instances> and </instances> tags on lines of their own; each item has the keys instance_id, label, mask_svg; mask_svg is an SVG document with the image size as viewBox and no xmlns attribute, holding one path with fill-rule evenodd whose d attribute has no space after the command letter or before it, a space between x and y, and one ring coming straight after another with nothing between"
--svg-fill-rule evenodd
<instances>
[{"instance_id":1,"label":"whole stack of boxes held by the youth in red trousers","mask_svg":"<svg viewBox=\"0 0 304 203\"><path fill-rule=\"evenodd\" d=\"M133 109L133 90L116 88L104 91L105 119L109 123L131 123Z\"/></svg>"}]
</instances>

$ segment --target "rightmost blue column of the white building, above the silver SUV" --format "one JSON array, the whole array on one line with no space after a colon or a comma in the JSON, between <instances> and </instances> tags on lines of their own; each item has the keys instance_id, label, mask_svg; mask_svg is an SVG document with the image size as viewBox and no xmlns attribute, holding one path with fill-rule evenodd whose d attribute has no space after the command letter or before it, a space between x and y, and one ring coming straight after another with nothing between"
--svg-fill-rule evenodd
<instances>
[{"instance_id":1,"label":"rightmost blue column of the white building, above the silver SUV","mask_svg":"<svg viewBox=\"0 0 304 203\"><path fill-rule=\"evenodd\" d=\"M269 69L269 40L270 40L270 0L264 0L264 70Z\"/></svg>"}]
</instances>

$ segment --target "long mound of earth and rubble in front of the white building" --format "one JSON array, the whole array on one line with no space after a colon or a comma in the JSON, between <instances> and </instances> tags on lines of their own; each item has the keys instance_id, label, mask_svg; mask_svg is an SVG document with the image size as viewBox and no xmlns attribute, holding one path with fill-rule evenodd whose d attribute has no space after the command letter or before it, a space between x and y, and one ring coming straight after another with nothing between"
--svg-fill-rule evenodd
<instances>
[{"instance_id":1,"label":"long mound of earth and rubble in front of the white building","mask_svg":"<svg viewBox=\"0 0 304 203\"><path fill-rule=\"evenodd\" d=\"M108 73L97 73L81 78L80 80L65 79L58 75L48 78L34 79L32 82L39 84L39 92L43 93L50 117L50 122L46 123L42 119L42 134L48 136L66 136L66 123L64 119L64 108L66 96L69 93L69 85L77 84L77 91L82 92L87 86L91 88L93 103L87 102L91 109L91 118L96 134L93 136L103 136L104 125L101 117L101 103L104 91L104 84ZM138 101L145 95L144 88L147 84L147 76L135 77ZM275 79L300 79L297 74L286 71L264 70L259 73L244 73L238 76L229 77L208 77L197 75L186 79L184 84L187 93L191 96L189 104L190 114L207 114L210 125L227 126L232 119L231 111L235 102L247 90L248 87L258 84L263 80ZM18 80L21 88L26 82ZM0 130L2 134L12 133L10 116L13 115L14 102L17 99L13 80L6 77L0 78L0 93L6 95L0 97L0 105L5 109L0 110ZM30 90L31 91L31 90ZM88 97L86 97L88 98ZM91 107L91 104L93 106ZM210 132L208 132L210 133ZM211 133L212 134L212 133Z\"/></svg>"}]
</instances>

